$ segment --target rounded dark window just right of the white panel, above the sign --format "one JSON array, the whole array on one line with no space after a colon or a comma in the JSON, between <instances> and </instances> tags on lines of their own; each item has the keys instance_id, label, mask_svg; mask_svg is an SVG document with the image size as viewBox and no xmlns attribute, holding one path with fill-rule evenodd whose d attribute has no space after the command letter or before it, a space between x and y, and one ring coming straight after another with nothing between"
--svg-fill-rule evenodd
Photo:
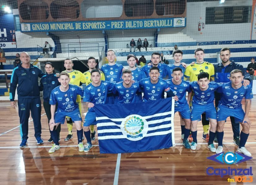
<instances>
[{"instance_id":1,"label":"rounded dark window just right of the white panel, above the sign","mask_svg":"<svg viewBox=\"0 0 256 185\"><path fill-rule=\"evenodd\" d=\"M150 16L154 12L153 0L126 0L124 10L127 17Z\"/></svg>"}]
</instances>

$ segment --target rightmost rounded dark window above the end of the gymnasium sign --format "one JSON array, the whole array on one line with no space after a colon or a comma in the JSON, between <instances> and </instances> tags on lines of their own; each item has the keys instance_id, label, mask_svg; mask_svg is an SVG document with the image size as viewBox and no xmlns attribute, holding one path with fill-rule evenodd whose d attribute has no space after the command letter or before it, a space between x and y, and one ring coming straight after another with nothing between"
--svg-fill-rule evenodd
<instances>
[{"instance_id":1,"label":"rightmost rounded dark window above the end of the gymnasium sign","mask_svg":"<svg viewBox=\"0 0 256 185\"><path fill-rule=\"evenodd\" d=\"M156 0L157 15L181 15L185 12L186 1Z\"/></svg>"}]
</instances>

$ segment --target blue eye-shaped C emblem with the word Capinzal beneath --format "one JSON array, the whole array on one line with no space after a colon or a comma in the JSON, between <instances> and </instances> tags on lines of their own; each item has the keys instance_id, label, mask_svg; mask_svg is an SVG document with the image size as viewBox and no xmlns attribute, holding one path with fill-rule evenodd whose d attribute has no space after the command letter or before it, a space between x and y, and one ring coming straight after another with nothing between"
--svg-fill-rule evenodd
<instances>
[{"instance_id":1,"label":"blue eye-shaped C emblem with the word Capinzal beneath","mask_svg":"<svg viewBox=\"0 0 256 185\"><path fill-rule=\"evenodd\" d=\"M224 154L224 152L220 154L215 154L210 157L207 157L207 159L210 159L212 161L218 162L223 165L233 165L238 164L241 162L245 162L249 159L252 159L252 157L246 156L244 154L235 152L227 152ZM252 167L249 168L232 168L232 167L224 167L224 168L214 168L214 167L208 167L206 169L207 175L220 175L223 177L224 175L253 175Z\"/></svg>"}]
</instances>

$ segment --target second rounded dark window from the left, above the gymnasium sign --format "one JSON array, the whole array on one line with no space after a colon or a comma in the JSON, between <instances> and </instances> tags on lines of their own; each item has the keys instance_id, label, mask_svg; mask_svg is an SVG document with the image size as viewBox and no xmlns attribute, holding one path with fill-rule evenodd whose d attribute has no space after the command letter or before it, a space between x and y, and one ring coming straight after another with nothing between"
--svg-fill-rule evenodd
<instances>
[{"instance_id":1,"label":"second rounded dark window from the left, above the gymnasium sign","mask_svg":"<svg viewBox=\"0 0 256 185\"><path fill-rule=\"evenodd\" d=\"M50 5L53 19L77 19L80 14L80 7L74 0L54 0Z\"/></svg>"}]
</instances>

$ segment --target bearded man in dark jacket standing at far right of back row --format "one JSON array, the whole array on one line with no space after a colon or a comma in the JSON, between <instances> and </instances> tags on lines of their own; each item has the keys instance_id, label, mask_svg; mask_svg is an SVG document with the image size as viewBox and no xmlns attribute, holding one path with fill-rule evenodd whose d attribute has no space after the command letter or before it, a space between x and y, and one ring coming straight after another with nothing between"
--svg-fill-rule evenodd
<instances>
[{"instance_id":1,"label":"bearded man in dark jacket standing at far right of back row","mask_svg":"<svg viewBox=\"0 0 256 185\"><path fill-rule=\"evenodd\" d=\"M229 48L223 48L220 50L220 58L222 63L215 63L214 65L214 81L218 83L227 83L230 82L229 77L230 77L230 72L234 69L240 69L243 72L244 76L244 83L243 85L246 86L250 83L251 81L251 76L244 67L240 64L236 64L235 62L231 62L230 59L230 49ZM218 107L218 102L222 97L221 93L214 93L215 95L215 107ZM232 124L232 130L233 130L233 142L239 146L239 136L240 136L240 124L235 124L235 118L230 117L231 124Z\"/></svg>"}]
</instances>

